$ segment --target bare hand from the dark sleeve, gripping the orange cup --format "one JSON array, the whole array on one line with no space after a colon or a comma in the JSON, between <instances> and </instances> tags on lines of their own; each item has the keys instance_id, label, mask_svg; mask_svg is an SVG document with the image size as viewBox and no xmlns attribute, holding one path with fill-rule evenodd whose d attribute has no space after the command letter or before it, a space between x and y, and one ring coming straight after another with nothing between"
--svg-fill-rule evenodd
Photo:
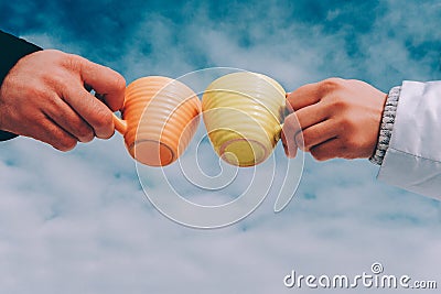
<instances>
[{"instance_id":1,"label":"bare hand from the dark sleeve, gripping the orange cup","mask_svg":"<svg viewBox=\"0 0 441 294\"><path fill-rule=\"evenodd\" d=\"M60 51L35 52L22 57L1 85L0 130L61 151L94 137L107 139L115 132L111 115L122 107L125 89L123 77L108 67Z\"/></svg>"}]
</instances>

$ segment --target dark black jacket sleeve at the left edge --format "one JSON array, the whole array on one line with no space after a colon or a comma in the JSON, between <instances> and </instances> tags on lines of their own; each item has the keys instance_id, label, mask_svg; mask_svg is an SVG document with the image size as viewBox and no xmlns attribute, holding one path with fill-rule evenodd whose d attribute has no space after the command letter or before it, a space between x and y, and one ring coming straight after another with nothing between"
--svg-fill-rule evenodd
<instances>
[{"instance_id":1,"label":"dark black jacket sleeve at the left edge","mask_svg":"<svg viewBox=\"0 0 441 294\"><path fill-rule=\"evenodd\" d=\"M23 39L0 31L0 86L3 84L3 79L9 70L21 57L40 50L42 48ZM17 134L0 130L0 141L14 137Z\"/></svg>"}]
</instances>

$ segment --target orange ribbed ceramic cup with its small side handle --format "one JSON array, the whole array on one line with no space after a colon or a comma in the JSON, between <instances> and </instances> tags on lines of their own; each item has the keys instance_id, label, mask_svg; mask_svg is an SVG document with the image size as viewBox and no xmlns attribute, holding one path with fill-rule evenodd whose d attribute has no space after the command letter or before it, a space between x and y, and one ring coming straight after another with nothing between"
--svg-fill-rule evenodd
<instances>
[{"instance_id":1,"label":"orange ribbed ceramic cup with its small side handle","mask_svg":"<svg viewBox=\"0 0 441 294\"><path fill-rule=\"evenodd\" d=\"M174 162L189 145L197 126L201 102L179 80L162 76L142 77L126 88L123 120L116 129L123 134L130 155L150 166Z\"/></svg>"}]
</instances>

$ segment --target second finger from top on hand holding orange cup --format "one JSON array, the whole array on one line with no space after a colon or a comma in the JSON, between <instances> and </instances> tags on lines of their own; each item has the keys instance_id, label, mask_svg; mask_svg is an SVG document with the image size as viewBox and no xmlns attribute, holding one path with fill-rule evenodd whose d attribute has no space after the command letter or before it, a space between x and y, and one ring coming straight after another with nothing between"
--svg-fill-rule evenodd
<instances>
[{"instance_id":1,"label":"second finger from top on hand holding orange cup","mask_svg":"<svg viewBox=\"0 0 441 294\"><path fill-rule=\"evenodd\" d=\"M112 112L86 89L68 87L63 98L94 129L96 137L108 139L114 134Z\"/></svg>"}]
</instances>

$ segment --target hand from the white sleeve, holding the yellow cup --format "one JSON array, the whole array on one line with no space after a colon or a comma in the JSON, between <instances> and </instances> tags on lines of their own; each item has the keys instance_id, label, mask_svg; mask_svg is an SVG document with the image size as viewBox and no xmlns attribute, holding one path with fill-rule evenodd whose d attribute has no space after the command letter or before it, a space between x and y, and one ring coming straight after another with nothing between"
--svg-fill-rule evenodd
<instances>
[{"instance_id":1,"label":"hand from the white sleeve, holding the yellow cup","mask_svg":"<svg viewBox=\"0 0 441 294\"><path fill-rule=\"evenodd\" d=\"M373 155L387 95L354 79L330 78L289 94L289 115L283 124L286 153L297 148L319 161Z\"/></svg>"}]
</instances>

